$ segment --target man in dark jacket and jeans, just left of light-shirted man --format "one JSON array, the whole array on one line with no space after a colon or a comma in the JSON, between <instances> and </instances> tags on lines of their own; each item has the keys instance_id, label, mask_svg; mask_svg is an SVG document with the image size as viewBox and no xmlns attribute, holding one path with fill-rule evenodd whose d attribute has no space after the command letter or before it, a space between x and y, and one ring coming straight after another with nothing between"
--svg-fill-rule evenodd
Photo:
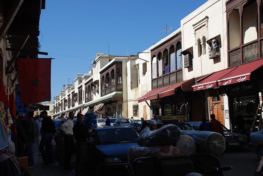
<instances>
[{"instance_id":1,"label":"man in dark jacket and jeans, just left of light-shirted man","mask_svg":"<svg viewBox=\"0 0 263 176\"><path fill-rule=\"evenodd\" d=\"M36 136L36 123L33 119L34 112L28 112L29 124L28 124L28 135L27 135L27 156L28 156L28 169L34 168L34 158L33 158L33 145L35 143Z\"/></svg>"}]
</instances>

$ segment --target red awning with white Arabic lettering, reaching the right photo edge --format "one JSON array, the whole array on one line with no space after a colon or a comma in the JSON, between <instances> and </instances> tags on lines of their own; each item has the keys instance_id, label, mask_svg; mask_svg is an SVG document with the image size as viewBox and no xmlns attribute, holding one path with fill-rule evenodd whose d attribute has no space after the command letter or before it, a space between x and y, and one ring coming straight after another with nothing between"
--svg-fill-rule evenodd
<instances>
[{"instance_id":1,"label":"red awning with white Arabic lettering, reaching the right photo edge","mask_svg":"<svg viewBox=\"0 0 263 176\"><path fill-rule=\"evenodd\" d=\"M217 81L218 86L225 86L228 84L250 80L251 72L262 67L262 65L263 59L240 65L235 70L232 70L230 73L220 78L220 80Z\"/></svg>"}]
</instances>

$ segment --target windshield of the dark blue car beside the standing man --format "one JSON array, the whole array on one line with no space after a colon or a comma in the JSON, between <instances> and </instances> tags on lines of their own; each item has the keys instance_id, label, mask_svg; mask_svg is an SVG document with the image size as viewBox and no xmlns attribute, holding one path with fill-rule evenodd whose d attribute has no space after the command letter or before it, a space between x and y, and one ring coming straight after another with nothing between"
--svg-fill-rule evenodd
<instances>
[{"instance_id":1,"label":"windshield of the dark blue car beside the standing man","mask_svg":"<svg viewBox=\"0 0 263 176\"><path fill-rule=\"evenodd\" d=\"M138 133L131 128L114 128L98 130L100 143L122 143L137 141Z\"/></svg>"}]
</instances>

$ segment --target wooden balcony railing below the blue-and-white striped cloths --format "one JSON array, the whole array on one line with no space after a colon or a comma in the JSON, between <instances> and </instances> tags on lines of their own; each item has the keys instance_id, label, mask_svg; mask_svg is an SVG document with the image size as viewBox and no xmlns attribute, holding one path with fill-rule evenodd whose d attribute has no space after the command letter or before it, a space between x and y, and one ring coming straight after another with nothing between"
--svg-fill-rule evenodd
<instances>
[{"instance_id":1,"label":"wooden balcony railing below the blue-and-white striped cloths","mask_svg":"<svg viewBox=\"0 0 263 176\"><path fill-rule=\"evenodd\" d=\"M183 81L183 71L178 70L152 79L152 89L168 86L181 81Z\"/></svg>"}]
</instances>

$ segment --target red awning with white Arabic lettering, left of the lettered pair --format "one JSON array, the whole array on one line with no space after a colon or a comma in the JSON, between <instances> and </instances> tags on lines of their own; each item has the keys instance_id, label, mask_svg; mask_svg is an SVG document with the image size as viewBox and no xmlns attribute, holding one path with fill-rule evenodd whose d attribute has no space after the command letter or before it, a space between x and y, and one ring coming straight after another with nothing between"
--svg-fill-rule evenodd
<instances>
[{"instance_id":1,"label":"red awning with white Arabic lettering, left of the lettered pair","mask_svg":"<svg viewBox=\"0 0 263 176\"><path fill-rule=\"evenodd\" d=\"M235 70L237 67L221 70L209 75L207 78L204 78L202 81L196 83L192 86L193 90L203 90L216 87L217 80L227 75L229 72Z\"/></svg>"}]
</instances>

